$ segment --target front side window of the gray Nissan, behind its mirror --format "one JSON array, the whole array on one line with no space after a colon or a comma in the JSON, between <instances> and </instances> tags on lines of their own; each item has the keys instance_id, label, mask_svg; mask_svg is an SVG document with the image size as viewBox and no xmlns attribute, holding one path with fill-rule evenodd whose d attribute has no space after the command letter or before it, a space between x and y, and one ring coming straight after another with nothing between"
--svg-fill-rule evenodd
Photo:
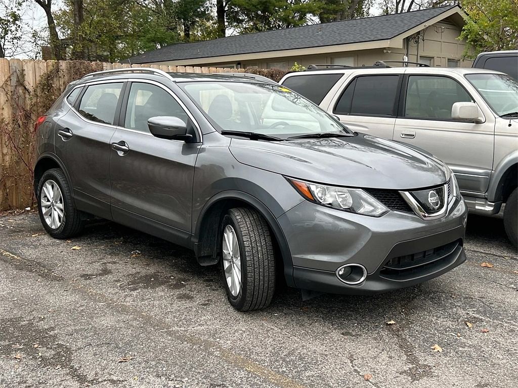
<instances>
[{"instance_id":1,"label":"front side window of the gray Nissan, behind its mirror","mask_svg":"<svg viewBox=\"0 0 518 388\"><path fill-rule=\"evenodd\" d=\"M187 123L187 113L163 88L134 82L126 107L124 127L142 132L149 132L148 120L155 116L176 116Z\"/></svg>"}]
</instances>

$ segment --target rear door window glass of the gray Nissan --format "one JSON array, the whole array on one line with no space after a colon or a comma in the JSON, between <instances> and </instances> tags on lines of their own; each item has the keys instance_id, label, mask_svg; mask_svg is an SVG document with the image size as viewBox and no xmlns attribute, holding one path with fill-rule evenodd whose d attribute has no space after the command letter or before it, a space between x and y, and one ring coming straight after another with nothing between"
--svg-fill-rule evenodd
<instances>
[{"instance_id":1,"label":"rear door window glass of the gray Nissan","mask_svg":"<svg viewBox=\"0 0 518 388\"><path fill-rule=\"evenodd\" d=\"M122 82L88 86L79 103L79 113L88 120L113 124Z\"/></svg>"}]
</instances>

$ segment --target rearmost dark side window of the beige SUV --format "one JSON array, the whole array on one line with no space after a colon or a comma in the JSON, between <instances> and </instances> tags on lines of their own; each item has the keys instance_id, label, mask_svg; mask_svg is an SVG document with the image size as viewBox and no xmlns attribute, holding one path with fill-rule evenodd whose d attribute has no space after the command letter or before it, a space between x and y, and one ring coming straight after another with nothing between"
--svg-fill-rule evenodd
<instances>
[{"instance_id":1,"label":"rearmost dark side window of the beige SUV","mask_svg":"<svg viewBox=\"0 0 518 388\"><path fill-rule=\"evenodd\" d=\"M312 74L293 76L282 83L308 100L319 104L343 74Z\"/></svg>"}]
</instances>

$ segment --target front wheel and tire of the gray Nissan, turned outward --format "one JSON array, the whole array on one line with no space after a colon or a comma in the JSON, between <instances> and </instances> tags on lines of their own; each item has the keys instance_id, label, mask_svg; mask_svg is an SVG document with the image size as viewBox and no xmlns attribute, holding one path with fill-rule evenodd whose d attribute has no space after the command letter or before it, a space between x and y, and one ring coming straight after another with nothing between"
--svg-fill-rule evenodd
<instances>
[{"instance_id":1,"label":"front wheel and tire of the gray Nissan, turned outward","mask_svg":"<svg viewBox=\"0 0 518 388\"><path fill-rule=\"evenodd\" d=\"M225 231L237 237L227 243ZM258 310L267 307L275 292L276 263L270 230L265 219L249 208L233 208L223 217L219 243L222 247L221 272L228 302L239 311ZM228 244L233 247L228 250ZM239 249L239 260L236 255ZM225 267L227 272L225 272ZM239 289L237 281L227 276L230 268L240 267ZM230 277L230 280L228 279Z\"/></svg>"}]
</instances>

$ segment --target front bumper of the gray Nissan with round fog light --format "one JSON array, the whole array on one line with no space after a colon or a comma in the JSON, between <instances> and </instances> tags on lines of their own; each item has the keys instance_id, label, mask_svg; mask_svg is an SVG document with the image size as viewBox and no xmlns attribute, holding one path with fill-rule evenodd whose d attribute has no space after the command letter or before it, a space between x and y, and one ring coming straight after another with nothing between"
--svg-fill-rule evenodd
<instances>
[{"instance_id":1,"label":"front bumper of the gray Nissan with round fog light","mask_svg":"<svg viewBox=\"0 0 518 388\"><path fill-rule=\"evenodd\" d=\"M415 285L463 263L466 217L462 200L453 201L447 215L438 220L394 211L368 217L305 201L278 220L292 253L297 288L373 294ZM433 260L416 259L422 265L390 269L389 262L413 260L420 252ZM359 285L340 281L335 271L344 264L363 265L365 281Z\"/></svg>"}]
</instances>

